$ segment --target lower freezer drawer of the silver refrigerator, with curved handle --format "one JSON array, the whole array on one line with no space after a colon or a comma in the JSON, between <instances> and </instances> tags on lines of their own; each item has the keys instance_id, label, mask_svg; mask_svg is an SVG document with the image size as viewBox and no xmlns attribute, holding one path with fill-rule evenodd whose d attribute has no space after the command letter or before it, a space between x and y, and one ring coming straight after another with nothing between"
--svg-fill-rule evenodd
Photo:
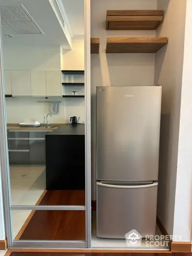
<instances>
[{"instance_id":1,"label":"lower freezer drawer of the silver refrigerator, with curved handle","mask_svg":"<svg viewBox=\"0 0 192 256\"><path fill-rule=\"evenodd\" d=\"M158 183L97 182L97 236L125 238L135 229L155 235Z\"/></svg>"}]
</instances>

